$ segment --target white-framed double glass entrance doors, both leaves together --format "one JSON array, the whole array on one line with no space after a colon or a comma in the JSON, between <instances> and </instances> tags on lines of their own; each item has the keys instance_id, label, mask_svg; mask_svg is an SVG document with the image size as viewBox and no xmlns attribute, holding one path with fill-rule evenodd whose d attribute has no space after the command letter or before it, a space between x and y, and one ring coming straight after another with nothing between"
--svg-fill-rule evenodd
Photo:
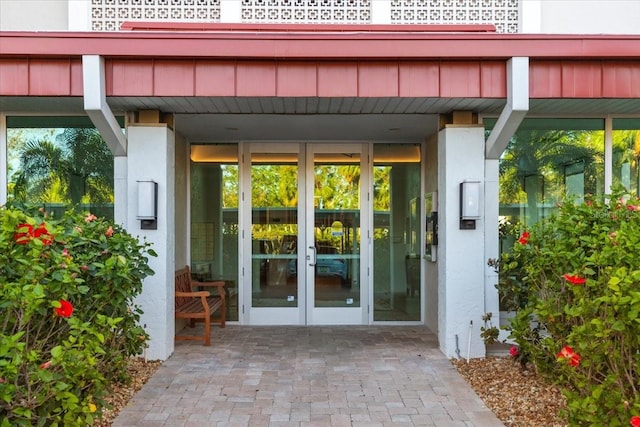
<instances>
[{"instance_id":1,"label":"white-framed double glass entrance doors, both leaves together","mask_svg":"<svg viewBox=\"0 0 640 427\"><path fill-rule=\"evenodd\" d=\"M369 321L366 150L364 144L245 145L244 323Z\"/></svg>"}]
</instances>

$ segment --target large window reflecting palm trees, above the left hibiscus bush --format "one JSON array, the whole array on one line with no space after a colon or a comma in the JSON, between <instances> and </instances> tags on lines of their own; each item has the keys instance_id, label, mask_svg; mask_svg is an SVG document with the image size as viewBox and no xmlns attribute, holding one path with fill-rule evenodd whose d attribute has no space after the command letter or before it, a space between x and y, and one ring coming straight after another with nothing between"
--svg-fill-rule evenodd
<instances>
[{"instance_id":1,"label":"large window reflecting palm trees, above the left hibiscus bush","mask_svg":"<svg viewBox=\"0 0 640 427\"><path fill-rule=\"evenodd\" d=\"M7 199L113 220L113 154L88 117L7 117Z\"/></svg>"}]
</instances>

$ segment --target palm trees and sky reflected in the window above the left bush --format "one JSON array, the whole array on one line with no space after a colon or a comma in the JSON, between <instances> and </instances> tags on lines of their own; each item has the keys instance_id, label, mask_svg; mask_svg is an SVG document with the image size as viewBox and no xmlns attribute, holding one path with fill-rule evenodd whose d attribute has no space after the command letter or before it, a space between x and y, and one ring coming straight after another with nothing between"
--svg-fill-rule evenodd
<instances>
[{"instance_id":1,"label":"palm trees and sky reflected in the window above the left bush","mask_svg":"<svg viewBox=\"0 0 640 427\"><path fill-rule=\"evenodd\" d=\"M30 139L16 148L13 197L32 203L112 203L113 155L95 129L65 129L55 142Z\"/></svg>"}]
</instances>

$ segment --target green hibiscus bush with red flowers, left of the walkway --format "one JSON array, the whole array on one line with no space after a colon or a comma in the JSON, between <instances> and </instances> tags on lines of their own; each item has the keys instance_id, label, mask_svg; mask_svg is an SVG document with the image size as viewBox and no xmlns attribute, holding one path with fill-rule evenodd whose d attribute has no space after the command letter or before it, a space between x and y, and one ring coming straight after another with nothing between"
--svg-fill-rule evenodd
<instances>
[{"instance_id":1,"label":"green hibiscus bush with red flowers, left of the walkway","mask_svg":"<svg viewBox=\"0 0 640 427\"><path fill-rule=\"evenodd\" d=\"M155 253L90 213L0 208L0 426L91 425L148 335Z\"/></svg>"}]
</instances>

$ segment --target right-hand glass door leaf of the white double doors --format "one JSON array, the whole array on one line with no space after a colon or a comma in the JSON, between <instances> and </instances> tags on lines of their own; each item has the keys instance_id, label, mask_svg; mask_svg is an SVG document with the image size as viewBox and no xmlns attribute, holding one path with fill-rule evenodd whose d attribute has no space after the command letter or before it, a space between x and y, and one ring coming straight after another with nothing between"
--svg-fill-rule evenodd
<instances>
[{"instance_id":1,"label":"right-hand glass door leaf of the white double doors","mask_svg":"<svg viewBox=\"0 0 640 427\"><path fill-rule=\"evenodd\" d=\"M313 324L361 324L362 146L307 147L309 316Z\"/></svg>"}]
</instances>

